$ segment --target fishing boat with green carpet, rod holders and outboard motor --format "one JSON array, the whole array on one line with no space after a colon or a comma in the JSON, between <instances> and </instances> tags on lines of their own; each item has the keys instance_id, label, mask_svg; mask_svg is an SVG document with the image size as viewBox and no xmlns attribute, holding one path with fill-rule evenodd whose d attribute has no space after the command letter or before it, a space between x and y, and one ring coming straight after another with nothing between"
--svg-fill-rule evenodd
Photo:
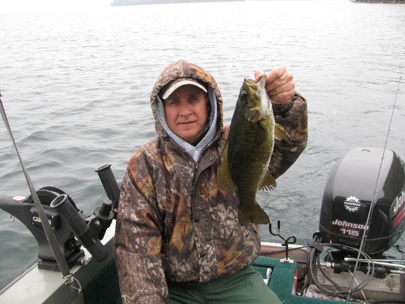
<instances>
[{"instance_id":1,"label":"fishing boat with green carpet, rod holders and outboard motor","mask_svg":"<svg viewBox=\"0 0 405 304\"><path fill-rule=\"evenodd\" d=\"M38 241L40 259L0 291L0 303L121 302L112 251L119 187L111 165L95 171L107 199L92 215L85 216L59 188L36 191L62 244L71 281L62 278L32 195L0 197L0 208ZM283 237L279 221L276 227L270 223L280 243L262 242L253 266L284 303L342 303L349 292L350 303L405 303L405 261L384 255L404 229L403 161L389 149L356 147L330 173L319 231L308 246L297 245L293 235Z\"/></svg>"}]
</instances>

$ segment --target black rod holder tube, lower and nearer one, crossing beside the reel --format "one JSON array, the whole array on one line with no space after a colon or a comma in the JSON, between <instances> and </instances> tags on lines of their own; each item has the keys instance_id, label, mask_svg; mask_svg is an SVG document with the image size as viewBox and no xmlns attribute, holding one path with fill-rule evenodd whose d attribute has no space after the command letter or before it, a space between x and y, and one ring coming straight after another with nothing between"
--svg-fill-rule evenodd
<instances>
[{"instance_id":1,"label":"black rod holder tube, lower and nearer one, crossing beside the reel","mask_svg":"<svg viewBox=\"0 0 405 304\"><path fill-rule=\"evenodd\" d=\"M67 203L66 203L67 202ZM55 209L60 217L66 222L74 236L90 252L90 254L99 262L105 260L108 251L104 245L97 239L85 220L74 209L67 199L67 195L62 194L56 197L50 207Z\"/></svg>"}]
</instances>

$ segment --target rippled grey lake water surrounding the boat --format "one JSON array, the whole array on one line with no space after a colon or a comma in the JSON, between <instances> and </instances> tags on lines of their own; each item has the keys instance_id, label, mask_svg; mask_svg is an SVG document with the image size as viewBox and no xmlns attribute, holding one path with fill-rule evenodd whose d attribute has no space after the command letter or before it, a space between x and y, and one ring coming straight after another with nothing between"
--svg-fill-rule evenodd
<instances>
[{"instance_id":1,"label":"rippled grey lake water surrounding the boat","mask_svg":"<svg viewBox=\"0 0 405 304\"><path fill-rule=\"evenodd\" d=\"M384 146L405 77L404 28L405 5L346 0L0 12L0 90L35 188L57 186L90 215L106 198L94 170L112 164L120 183L155 137L149 94L167 64L186 59L212 73L225 123L244 77L287 66L308 100L308 147L258 200L282 235L306 244L336 161L356 146ZM403 82L387 146L405 160ZM0 124L0 195L28 194ZM279 242L266 226L261 236ZM3 210L0 240L1 289L37 260L37 244ZM405 235L387 254L405 259Z\"/></svg>"}]
</instances>

